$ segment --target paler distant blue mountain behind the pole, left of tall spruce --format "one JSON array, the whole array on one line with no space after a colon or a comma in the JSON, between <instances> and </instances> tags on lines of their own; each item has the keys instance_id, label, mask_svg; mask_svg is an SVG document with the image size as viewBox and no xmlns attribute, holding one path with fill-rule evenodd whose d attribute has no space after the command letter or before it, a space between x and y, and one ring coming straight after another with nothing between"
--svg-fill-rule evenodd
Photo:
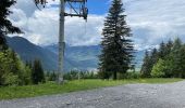
<instances>
[{"instance_id":1,"label":"paler distant blue mountain behind the pole, left of tall spruce","mask_svg":"<svg viewBox=\"0 0 185 108\"><path fill-rule=\"evenodd\" d=\"M58 55L58 44L44 46ZM73 69L94 70L98 67L99 45L70 46L65 45L65 59L70 59Z\"/></svg>"}]
</instances>

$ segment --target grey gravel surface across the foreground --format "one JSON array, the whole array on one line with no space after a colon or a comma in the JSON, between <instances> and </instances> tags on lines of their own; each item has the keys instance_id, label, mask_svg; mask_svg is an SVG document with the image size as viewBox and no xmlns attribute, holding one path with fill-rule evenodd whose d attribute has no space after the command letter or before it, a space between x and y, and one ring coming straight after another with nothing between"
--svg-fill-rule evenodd
<instances>
[{"instance_id":1,"label":"grey gravel surface across the foreground","mask_svg":"<svg viewBox=\"0 0 185 108\"><path fill-rule=\"evenodd\" d=\"M185 108L185 81L1 100L0 108Z\"/></svg>"}]
</instances>

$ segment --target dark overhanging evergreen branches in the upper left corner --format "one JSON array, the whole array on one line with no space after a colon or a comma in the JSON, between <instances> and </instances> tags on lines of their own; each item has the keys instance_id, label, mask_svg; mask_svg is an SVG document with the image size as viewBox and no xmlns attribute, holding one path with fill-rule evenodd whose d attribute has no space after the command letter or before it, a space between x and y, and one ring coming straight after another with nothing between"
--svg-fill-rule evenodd
<instances>
[{"instance_id":1,"label":"dark overhanging evergreen branches in the upper left corner","mask_svg":"<svg viewBox=\"0 0 185 108\"><path fill-rule=\"evenodd\" d=\"M0 0L0 51L7 50L5 33L21 33L20 28L12 25L8 16L12 13L10 6L16 3L15 0Z\"/></svg>"}]
</instances>

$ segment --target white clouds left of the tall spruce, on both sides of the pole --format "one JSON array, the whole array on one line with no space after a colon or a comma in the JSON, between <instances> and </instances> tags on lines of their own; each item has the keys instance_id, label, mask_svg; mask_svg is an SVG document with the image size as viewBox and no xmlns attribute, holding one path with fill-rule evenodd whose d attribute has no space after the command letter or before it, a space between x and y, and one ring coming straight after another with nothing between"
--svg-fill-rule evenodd
<instances>
[{"instance_id":1,"label":"white clouds left of the tall spruce, on both sides of the pole","mask_svg":"<svg viewBox=\"0 0 185 108\"><path fill-rule=\"evenodd\" d=\"M40 45L57 43L59 37L59 8L52 5L58 3L59 0L57 2L51 1L46 9L39 11L33 2L18 0L17 4L12 8L14 14L10 18L14 25L25 32L21 37L33 43ZM99 44L102 24L103 16L99 15L89 15L87 23L83 18L65 17L66 43L71 45Z\"/></svg>"}]
</instances>

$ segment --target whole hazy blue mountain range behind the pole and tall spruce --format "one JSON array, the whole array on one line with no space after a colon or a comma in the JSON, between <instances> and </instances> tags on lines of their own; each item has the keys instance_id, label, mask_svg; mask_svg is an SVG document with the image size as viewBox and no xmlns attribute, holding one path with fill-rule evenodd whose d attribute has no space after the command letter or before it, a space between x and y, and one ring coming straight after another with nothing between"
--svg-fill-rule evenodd
<instances>
[{"instance_id":1,"label":"whole hazy blue mountain range behind the pole and tall spruce","mask_svg":"<svg viewBox=\"0 0 185 108\"><path fill-rule=\"evenodd\" d=\"M41 60L46 70L58 69L58 44L39 46L22 37L8 37L7 40L10 48L12 48L24 62L38 58ZM98 67L98 55L100 51L100 45L71 46L66 44L64 70L95 70ZM144 54L144 51L135 53L137 68L141 66Z\"/></svg>"}]
</instances>

